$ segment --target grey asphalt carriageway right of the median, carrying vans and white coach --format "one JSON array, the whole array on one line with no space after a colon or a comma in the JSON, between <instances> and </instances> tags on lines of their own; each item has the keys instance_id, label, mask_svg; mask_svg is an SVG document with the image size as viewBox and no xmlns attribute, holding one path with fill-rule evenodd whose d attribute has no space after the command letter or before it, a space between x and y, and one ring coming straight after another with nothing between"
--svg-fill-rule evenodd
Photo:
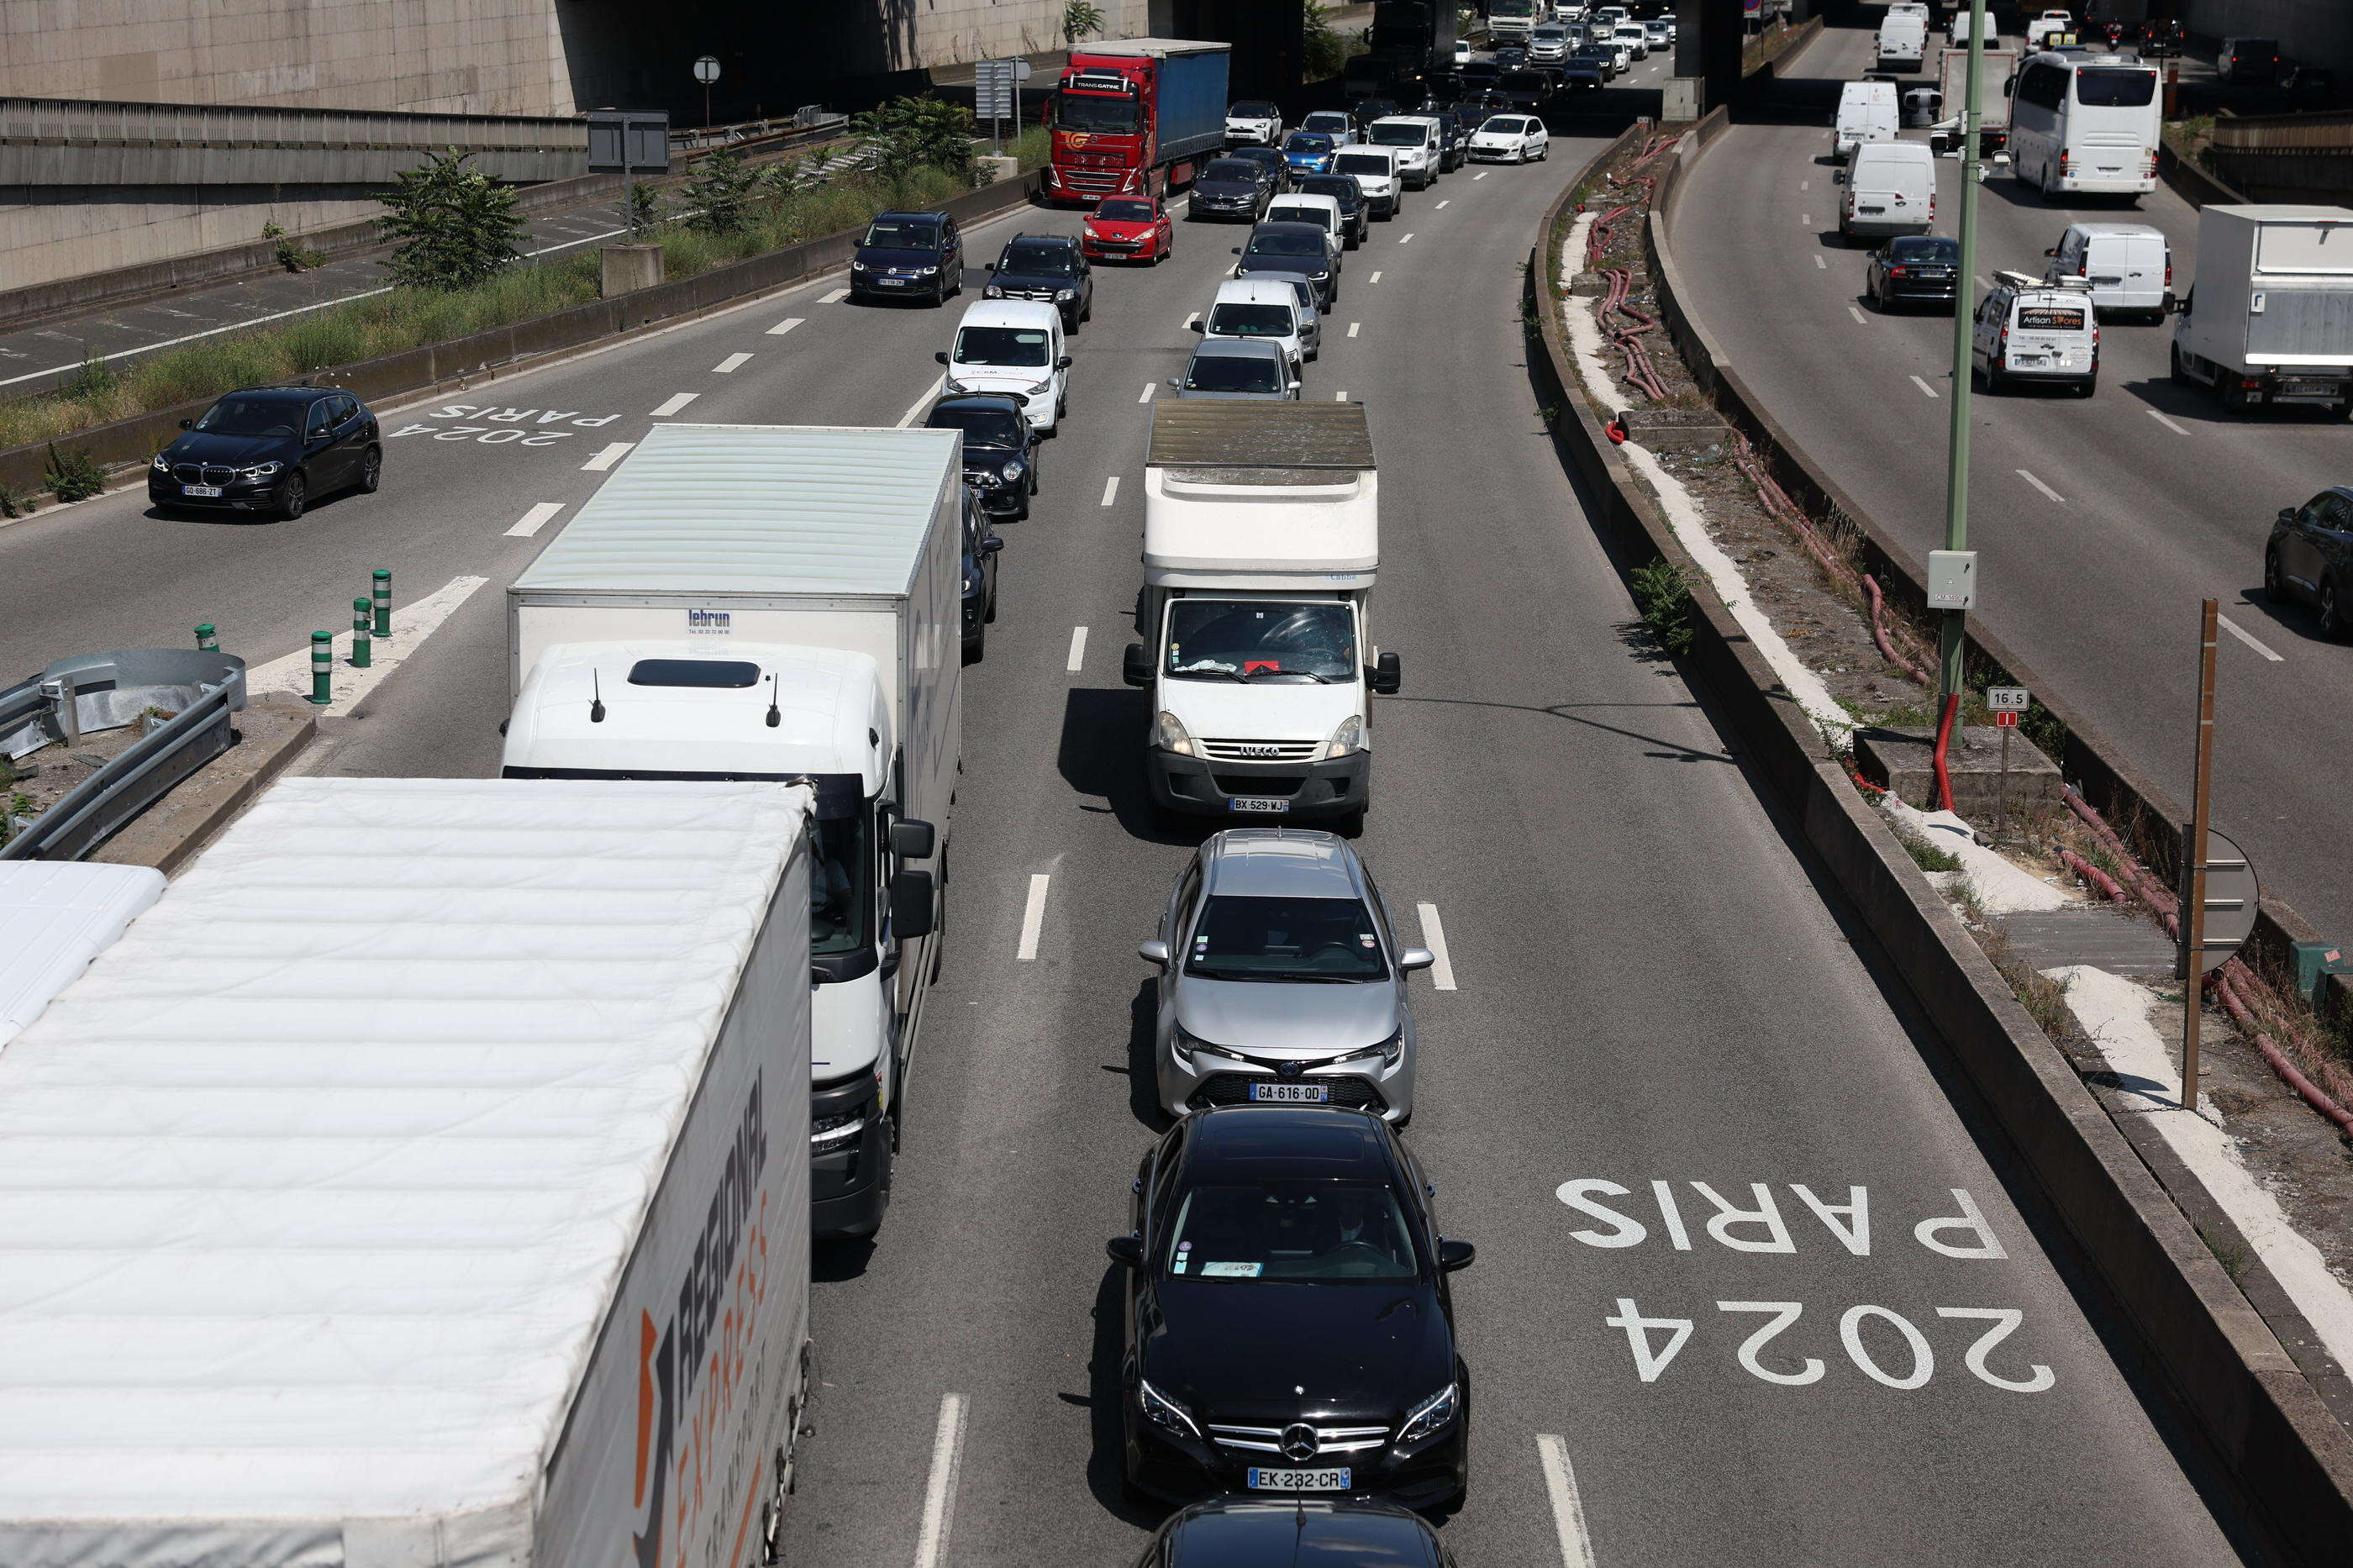
<instances>
[{"instance_id":1,"label":"grey asphalt carriageway right of the median, carrying vans and white coach","mask_svg":"<svg viewBox=\"0 0 2353 1568\"><path fill-rule=\"evenodd\" d=\"M1784 68L1786 89L1835 101L1873 68L1861 28L1831 28ZM1915 137L1922 132L1913 132ZM1953 323L1880 315L1864 250L1838 242L1838 167L1821 125L1734 125L1682 186L1671 233L1685 306L1774 417L1899 542L1944 544ZM1958 162L1939 162L1937 231L1953 233ZM2195 283L2198 214L2169 188L2047 202L2009 174L1979 200L1979 278L2042 273L2071 221L2155 224L2174 290ZM2099 393L1974 400L1969 544L1981 622L2125 756L2188 798L2198 600L2219 598L2214 812L2275 888L2325 932L2353 930L2353 645L2311 610L2264 600L2264 539L2282 506L2353 476L2353 428L2313 410L2233 417L2167 379L2172 323L2104 320Z\"/></svg>"}]
</instances>

